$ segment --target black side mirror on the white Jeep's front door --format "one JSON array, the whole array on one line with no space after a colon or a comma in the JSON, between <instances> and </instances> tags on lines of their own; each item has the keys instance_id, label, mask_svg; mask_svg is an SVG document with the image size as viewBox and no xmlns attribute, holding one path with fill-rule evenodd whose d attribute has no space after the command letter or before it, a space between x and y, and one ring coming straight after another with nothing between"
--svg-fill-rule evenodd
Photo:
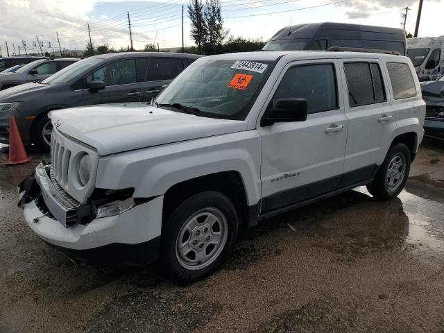
<instances>
[{"instance_id":1,"label":"black side mirror on the white Jeep's front door","mask_svg":"<svg viewBox=\"0 0 444 333\"><path fill-rule=\"evenodd\" d=\"M269 109L262 118L262 126L270 126L273 123L307 120L306 99L278 99L275 107Z\"/></svg>"}]
</instances>

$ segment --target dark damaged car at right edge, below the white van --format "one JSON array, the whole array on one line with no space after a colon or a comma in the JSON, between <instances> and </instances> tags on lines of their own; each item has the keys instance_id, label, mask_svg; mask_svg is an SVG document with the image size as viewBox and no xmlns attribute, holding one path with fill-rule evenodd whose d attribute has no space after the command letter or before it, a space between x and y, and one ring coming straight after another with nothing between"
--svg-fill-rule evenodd
<instances>
[{"instance_id":1,"label":"dark damaged car at right edge, below the white van","mask_svg":"<svg viewBox=\"0 0 444 333\"><path fill-rule=\"evenodd\" d=\"M421 82L425 111L425 134L444 140L444 76L436 81Z\"/></svg>"}]
</instances>

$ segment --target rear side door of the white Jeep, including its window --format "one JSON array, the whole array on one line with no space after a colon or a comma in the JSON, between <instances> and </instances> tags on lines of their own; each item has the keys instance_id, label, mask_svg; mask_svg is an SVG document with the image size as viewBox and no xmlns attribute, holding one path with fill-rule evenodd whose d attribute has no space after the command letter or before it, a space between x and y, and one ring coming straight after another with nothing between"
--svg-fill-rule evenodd
<instances>
[{"instance_id":1,"label":"rear side door of the white Jeep, including its window","mask_svg":"<svg viewBox=\"0 0 444 333\"><path fill-rule=\"evenodd\" d=\"M387 76L377 59L343 59L343 94L348 118L344 177L341 187L373 178L386 155L396 128L395 110L386 86Z\"/></svg>"}]
</instances>

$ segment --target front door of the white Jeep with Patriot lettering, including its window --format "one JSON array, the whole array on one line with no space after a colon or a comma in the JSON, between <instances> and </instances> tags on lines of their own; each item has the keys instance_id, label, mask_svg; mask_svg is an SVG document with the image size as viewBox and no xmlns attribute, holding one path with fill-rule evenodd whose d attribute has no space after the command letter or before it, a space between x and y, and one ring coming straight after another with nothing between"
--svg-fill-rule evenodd
<instances>
[{"instance_id":1,"label":"front door of the white Jeep with Patriot lettering, including its window","mask_svg":"<svg viewBox=\"0 0 444 333\"><path fill-rule=\"evenodd\" d=\"M343 171L348 121L337 61L292 62L279 80L267 108L278 99L306 99L307 120L258 126L262 213L334 191Z\"/></svg>"}]
</instances>

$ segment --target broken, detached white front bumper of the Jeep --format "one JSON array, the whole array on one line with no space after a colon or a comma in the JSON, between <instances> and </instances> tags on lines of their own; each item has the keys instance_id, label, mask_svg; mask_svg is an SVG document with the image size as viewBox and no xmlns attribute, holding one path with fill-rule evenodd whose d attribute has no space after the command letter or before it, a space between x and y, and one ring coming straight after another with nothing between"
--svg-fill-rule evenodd
<instances>
[{"instance_id":1,"label":"broken, detached white front bumper of the Jeep","mask_svg":"<svg viewBox=\"0 0 444 333\"><path fill-rule=\"evenodd\" d=\"M18 190L19 207L31 230L75 262L141 266L159 255L163 196L119 215L96 218L94 204L80 205L58 189L44 162Z\"/></svg>"}]
</instances>

